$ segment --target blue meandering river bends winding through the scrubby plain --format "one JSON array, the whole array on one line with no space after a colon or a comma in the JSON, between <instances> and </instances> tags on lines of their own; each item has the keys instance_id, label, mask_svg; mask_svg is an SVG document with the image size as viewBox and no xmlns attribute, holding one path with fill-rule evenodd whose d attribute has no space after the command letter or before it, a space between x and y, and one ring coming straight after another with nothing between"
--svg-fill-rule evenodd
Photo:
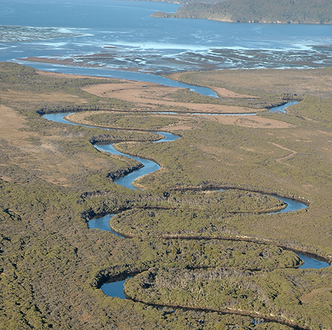
<instances>
[{"instance_id":1,"label":"blue meandering river bends winding through the scrubby plain","mask_svg":"<svg viewBox=\"0 0 332 330\"><path fill-rule=\"evenodd\" d=\"M272 108L270 109L270 111L282 111L285 112L285 108L287 106L291 106L291 104L294 104L295 102L292 103L286 103L283 106L279 106L276 108ZM44 118L54 121L54 122L62 122L64 124L74 124L73 122L69 122L67 120L64 119L65 116L69 115L70 113L57 113L57 114L47 114L47 115L43 115ZM88 125L83 125L85 127L90 127ZM162 136L164 136L164 138L160 139L157 142L165 142L165 141L175 141L179 138L179 136L176 136L174 134L170 134L167 132L155 132L157 134L160 134ZM141 164L144 165L144 167L139 168L137 171L134 171L128 175L125 175L123 178L120 178L118 180L115 181L116 184L118 185L123 185L123 187L127 187L130 189L137 189L137 187L134 187L132 185L132 182L134 180L136 180L137 178L141 177L142 175L146 175L148 173L152 173L154 171L157 171L160 166L158 164L156 164L155 162L152 162L148 159L143 159L140 157L134 157L134 156L130 156L130 155L125 155L122 152L119 152L118 150L116 150L113 147L113 144L106 144L106 145L95 145L95 148L99 149L99 150L103 150L105 152L109 152L112 155L123 155L125 157L130 157L132 159L136 159L138 162L141 162ZM275 196L278 199L284 201L284 203L286 203L286 208L284 208L283 210L280 210L277 213L286 213L286 212L292 212L292 211L296 211L296 210L301 210L303 208L306 208L307 206L304 203L299 203L298 201L293 201L292 199L286 199L285 197L280 197L280 196ZM274 214L274 213L270 213L270 214ZM89 228L90 229L99 229L102 231L111 231L112 234L116 235L116 236L120 236L121 238L123 238L123 236L121 234L116 233L115 231L113 231L111 229L111 227L109 226L109 220L111 219L113 215L105 215L104 217L99 217L97 219L92 219L89 221ZM319 259L315 259L314 257L310 257L309 255L306 254L301 254L296 252L296 254L298 254L298 257L300 257L301 260L304 261L304 264L301 265L299 268L326 268L328 266L330 266L327 262L325 261L321 261ZM108 296L113 296L113 297L118 297L121 299L125 299L125 294L123 292L123 285L125 283L126 279L122 279L120 281L116 281L116 282L109 282L109 283L104 283L104 285L102 285L101 289L104 292L104 294L108 295Z\"/></svg>"}]
</instances>

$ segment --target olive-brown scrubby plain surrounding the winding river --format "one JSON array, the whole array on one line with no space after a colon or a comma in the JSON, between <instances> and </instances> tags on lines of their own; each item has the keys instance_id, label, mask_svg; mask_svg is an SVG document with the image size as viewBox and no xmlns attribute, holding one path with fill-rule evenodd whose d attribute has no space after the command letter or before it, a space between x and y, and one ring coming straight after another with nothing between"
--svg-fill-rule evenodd
<instances>
[{"instance_id":1,"label":"olive-brown scrubby plain surrounding the winding river","mask_svg":"<svg viewBox=\"0 0 332 330\"><path fill-rule=\"evenodd\" d=\"M291 252L332 258L330 73L183 73L177 79L222 90L222 104L138 86L135 102L132 91L111 93L131 82L1 63L0 329L133 329L133 320L137 329L331 329L331 269L296 269ZM287 114L233 120L159 113L251 112L284 99L302 101ZM40 115L62 111L116 130ZM153 129L181 138L152 143ZM135 182L144 191L115 185L110 173L137 162L98 152L98 141L161 169ZM260 192L309 207L269 215L283 205ZM106 213L133 237L88 229ZM98 289L129 273L138 274L125 286L134 300Z\"/></svg>"}]
</instances>

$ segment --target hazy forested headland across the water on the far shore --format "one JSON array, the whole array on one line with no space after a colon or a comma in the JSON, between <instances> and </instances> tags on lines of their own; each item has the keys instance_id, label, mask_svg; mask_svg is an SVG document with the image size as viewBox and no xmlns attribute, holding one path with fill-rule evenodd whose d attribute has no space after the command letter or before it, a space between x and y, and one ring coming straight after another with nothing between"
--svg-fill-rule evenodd
<instances>
[{"instance_id":1,"label":"hazy forested headland across the water on the far shore","mask_svg":"<svg viewBox=\"0 0 332 330\"><path fill-rule=\"evenodd\" d=\"M228 0L188 3L177 13L154 17L204 18L225 22L332 23L331 0Z\"/></svg>"}]
</instances>

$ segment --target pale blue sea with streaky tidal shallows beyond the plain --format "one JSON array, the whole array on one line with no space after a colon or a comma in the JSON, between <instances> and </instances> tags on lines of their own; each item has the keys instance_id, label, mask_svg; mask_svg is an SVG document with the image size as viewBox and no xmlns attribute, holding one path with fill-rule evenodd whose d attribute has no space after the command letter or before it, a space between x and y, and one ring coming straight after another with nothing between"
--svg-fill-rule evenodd
<instances>
[{"instance_id":1,"label":"pale blue sea with streaky tidal shallows beyond the plain","mask_svg":"<svg viewBox=\"0 0 332 330\"><path fill-rule=\"evenodd\" d=\"M178 7L146 1L0 0L0 60L48 57L62 62L29 65L87 74L93 67L97 73L106 69L106 75L332 65L331 25L150 17ZM119 78L126 78L122 74Z\"/></svg>"}]
</instances>

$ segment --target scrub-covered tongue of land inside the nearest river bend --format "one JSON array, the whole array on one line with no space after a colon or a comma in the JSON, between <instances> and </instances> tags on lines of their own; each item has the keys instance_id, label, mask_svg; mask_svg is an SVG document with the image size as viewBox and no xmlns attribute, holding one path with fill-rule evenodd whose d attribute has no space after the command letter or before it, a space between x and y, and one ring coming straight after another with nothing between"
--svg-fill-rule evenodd
<instances>
[{"instance_id":1,"label":"scrub-covered tongue of land inside the nearest river bend","mask_svg":"<svg viewBox=\"0 0 332 330\"><path fill-rule=\"evenodd\" d=\"M315 275L282 270L151 268L127 280L125 293L149 304L220 310L275 320L296 329L319 329L331 324L331 313L317 313L312 299L317 295L322 302L331 301L332 278L322 272L317 280Z\"/></svg>"}]
</instances>

